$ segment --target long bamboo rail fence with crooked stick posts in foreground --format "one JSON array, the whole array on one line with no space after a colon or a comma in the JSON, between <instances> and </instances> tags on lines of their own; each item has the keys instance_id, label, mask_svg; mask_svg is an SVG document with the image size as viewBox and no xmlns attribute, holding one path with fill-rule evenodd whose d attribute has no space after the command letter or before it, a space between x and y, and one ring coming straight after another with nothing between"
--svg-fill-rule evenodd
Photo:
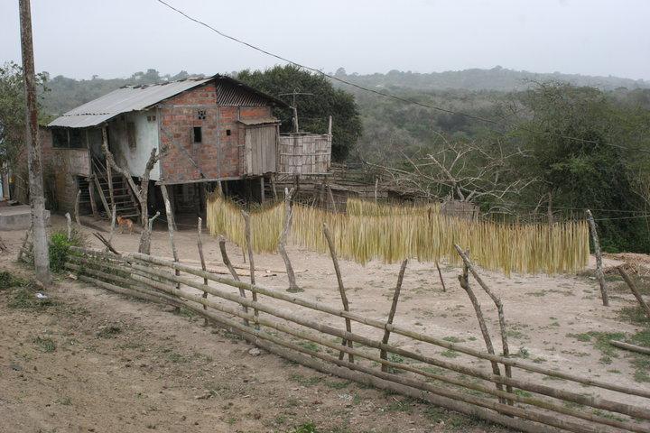
<instances>
[{"instance_id":1,"label":"long bamboo rail fence with crooked stick posts in foreground","mask_svg":"<svg viewBox=\"0 0 650 433\"><path fill-rule=\"evenodd\" d=\"M547 369L452 343L395 325L392 317L383 321L349 311L346 301L344 309L339 309L249 284L239 281L231 266L237 278L142 253L116 254L78 247L72 250L65 266L80 281L190 309L255 345L324 373L527 432L650 432L648 389L604 382L568 373L567 369ZM404 266L405 262L402 274ZM336 261L335 267L338 271ZM466 262L464 278L468 287L468 272L484 284ZM345 299L343 290L341 295ZM398 298L399 284L392 312ZM502 312L500 308L499 318ZM332 322L340 326L332 326ZM396 338L399 344L395 344ZM418 350L404 348L414 343L419 344ZM456 351L475 363L427 355L432 348ZM348 355L347 359L344 355ZM505 375L501 374L502 368ZM562 379L562 384L568 386L550 386L544 382L547 379ZM571 385L580 386L580 392L568 390Z\"/></svg>"}]
</instances>

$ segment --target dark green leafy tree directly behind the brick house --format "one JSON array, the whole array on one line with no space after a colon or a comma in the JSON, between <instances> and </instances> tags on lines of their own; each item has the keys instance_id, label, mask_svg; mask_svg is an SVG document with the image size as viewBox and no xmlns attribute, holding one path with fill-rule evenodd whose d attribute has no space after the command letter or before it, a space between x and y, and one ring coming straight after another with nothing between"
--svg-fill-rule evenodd
<instances>
[{"instance_id":1,"label":"dark green leafy tree directly behind the brick house","mask_svg":"<svg viewBox=\"0 0 650 433\"><path fill-rule=\"evenodd\" d=\"M326 134L331 115L332 158L335 161L345 160L361 136L361 119L355 98L344 90L333 88L330 81L320 74L288 65L275 66L265 71L242 70L237 74L237 79L274 97L294 90L312 93L313 96L297 97L301 130ZM292 97L280 98L289 105L292 104ZM283 121L283 132L291 131L291 110L278 109L274 115Z\"/></svg>"}]
</instances>

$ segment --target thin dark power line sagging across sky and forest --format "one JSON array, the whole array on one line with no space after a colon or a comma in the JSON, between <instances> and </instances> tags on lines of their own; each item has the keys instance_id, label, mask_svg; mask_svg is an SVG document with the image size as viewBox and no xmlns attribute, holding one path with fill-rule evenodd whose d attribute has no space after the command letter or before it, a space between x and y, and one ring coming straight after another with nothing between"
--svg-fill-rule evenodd
<instances>
[{"instance_id":1,"label":"thin dark power line sagging across sky and forest","mask_svg":"<svg viewBox=\"0 0 650 433\"><path fill-rule=\"evenodd\" d=\"M227 38L227 39L229 39L231 41L236 41L237 43L240 43L242 45L246 45L246 47L248 47L248 48L251 48L251 49L253 49L255 51L262 52L262 53L266 54L267 56L271 56L271 57L273 57L273 58L275 58L277 60L282 60L282 61L284 61L286 63L289 63L289 64L292 64L293 66L296 66L298 68L311 70L312 72L320 74L323 77L327 77L327 78L333 79L335 81L339 81L340 83L346 84L346 85L348 85L350 87L358 88L358 89L364 90L366 92L374 93L374 94L379 95L381 97L392 98L392 99L395 99L397 101L404 102L406 104L412 104L412 105L415 105L415 106L422 106L422 107L425 107L425 108L441 111L442 113L447 113L447 114L451 114L451 115L462 115L462 116L467 117L469 119L477 120L479 122L484 122L484 123L487 123L487 124L494 124L494 125L497 125L497 126L506 126L506 124L503 124L503 123L501 123L501 122L499 122L497 120L488 119L487 117L483 117L483 116L480 116L480 115L469 115L467 113L462 113L460 111L450 110L448 108L443 108L441 106L432 106L432 105L429 105L429 104L425 104L425 103L416 101L414 99L409 99L407 97L398 97L396 95L386 93L386 92L382 92L382 91L376 90L374 88L366 88L366 87L360 86L360 85L352 83L352 82L350 82L348 80L345 80L345 79L338 78L338 77L335 77L333 75L330 75L330 74L328 74L326 72L321 71L320 69L311 68L309 66L302 65L301 63L298 63L296 61L286 59L286 58L284 58L284 57L282 57L282 56L280 56L278 54L274 54L271 51L266 51L265 49L259 48L259 47L255 46L255 45L253 45L252 43L242 41L240 39L237 39L234 36L230 36L229 34L221 32L218 29L212 27L208 23L204 23L204 22L200 21L199 19L194 18L193 16L190 16L189 14L184 13L180 9L177 9L176 7L170 5L169 3L167 3L167 2L165 2L163 0L155 0L155 1L157 1L161 5L165 5L166 7L172 9L172 11L174 11L174 12L176 12L178 14L181 14L182 16L187 18L188 20L190 20L190 21L192 21L194 23L198 23L198 24L202 25L203 27L206 27L207 29L211 30L212 32L218 33L218 35L220 35L220 36L222 36L224 38ZM650 151L645 150L645 149L638 149L638 148L637 149L631 149L631 148L626 148L624 146L620 146L620 145L617 145L617 144L599 143L599 142L596 142L596 141L593 141L593 140L585 140L585 139L582 139L582 138L572 137L572 136L569 136L569 135L554 134L554 133L546 132L546 131L538 131L538 130L525 128L525 127L521 127L521 126L519 127L519 129L521 129L522 131L526 131L528 133L532 133L532 134L549 135L549 136L559 137L559 138L562 138L562 139L571 140L571 141L580 142L580 143L605 144L605 145L608 145L610 147L615 147L615 148L618 148L618 149L624 149L624 150L629 149L629 150L634 150L634 151L637 151L637 152L648 152L648 153L650 153Z\"/></svg>"}]
</instances>

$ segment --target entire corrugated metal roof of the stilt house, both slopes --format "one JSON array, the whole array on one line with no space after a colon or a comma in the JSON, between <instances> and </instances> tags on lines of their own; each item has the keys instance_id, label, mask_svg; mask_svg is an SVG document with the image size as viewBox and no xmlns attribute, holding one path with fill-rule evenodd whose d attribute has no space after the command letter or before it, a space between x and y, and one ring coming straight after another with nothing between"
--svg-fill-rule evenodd
<instances>
[{"instance_id":1,"label":"entire corrugated metal roof of the stilt house, both slopes","mask_svg":"<svg viewBox=\"0 0 650 433\"><path fill-rule=\"evenodd\" d=\"M190 88L199 87L211 80L218 82L218 104L232 106L286 106L282 101L265 95L245 84L222 75L209 78L189 78L150 86L126 86L61 115L48 126L88 128L107 122L116 115L140 111L174 97ZM244 90L244 91L242 91Z\"/></svg>"}]
</instances>

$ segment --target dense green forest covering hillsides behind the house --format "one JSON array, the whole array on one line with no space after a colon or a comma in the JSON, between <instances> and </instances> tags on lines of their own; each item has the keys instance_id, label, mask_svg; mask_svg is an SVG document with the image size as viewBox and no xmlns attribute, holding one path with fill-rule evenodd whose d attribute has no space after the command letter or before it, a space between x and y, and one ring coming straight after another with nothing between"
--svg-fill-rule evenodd
<instances>
[{"instance_id":1,"label":"dense green forest covering hillsides behind the house","mask_svg":"<svg viewBox=\"0 0 650 433\"><path fill-rule=\"evenodd\" d=\"M312 93L298 101L302 129L325 132L332 115L334 157L363 162L395 187L472 201L508 221L583 217L591 208L608 251L650 252L650 82L498 67L339 69L332 74L339 80L291 66L229 75L274 96ZM155 69L111 79L43 75L42 108L58 115L125 85L189 76ZM291 112L276 115L291 127Z\"/></svg>"}]
</instances>

